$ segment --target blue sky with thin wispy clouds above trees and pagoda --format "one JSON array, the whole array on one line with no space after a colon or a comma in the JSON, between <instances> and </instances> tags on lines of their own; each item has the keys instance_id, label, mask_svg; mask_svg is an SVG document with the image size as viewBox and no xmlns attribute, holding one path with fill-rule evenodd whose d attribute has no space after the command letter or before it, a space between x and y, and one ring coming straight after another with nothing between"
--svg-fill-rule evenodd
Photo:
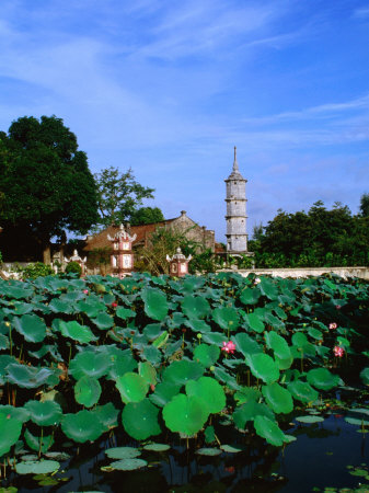
<instances>
[{"instance_id":1,"label":"blue sky with thin wispy clouds above trees and pagoda","mask_svg":"<svg viewBox=\"0 0 369 493\"><path fill-rule=\"evenodd\" d=\"M224 241L233 146L251 236L369 192L369 1L2 0L0 130L61 117L90 169L132 168Z\"/></svg>"}]
</instances>

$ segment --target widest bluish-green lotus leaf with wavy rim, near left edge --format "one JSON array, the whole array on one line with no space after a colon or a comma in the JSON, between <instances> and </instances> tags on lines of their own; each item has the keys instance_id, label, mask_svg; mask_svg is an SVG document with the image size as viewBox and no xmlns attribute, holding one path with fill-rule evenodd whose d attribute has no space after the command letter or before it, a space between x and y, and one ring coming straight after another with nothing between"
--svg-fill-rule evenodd
<instances>
[{"instance_id":1,"label":"widest bluish-green lotus leaf with wavy rim, near left edge","mask_svg":"<svg viewBox=\"0 0 369 493\"><path fill-rule=\"evenodd\" d=\"M34 389L43 385L57 385L59 382L56 372L49 368L34 368L33 366L11 363L7 366L7 372L10 383L15 383L24 389Z\"/></svg>"}]
</instances>

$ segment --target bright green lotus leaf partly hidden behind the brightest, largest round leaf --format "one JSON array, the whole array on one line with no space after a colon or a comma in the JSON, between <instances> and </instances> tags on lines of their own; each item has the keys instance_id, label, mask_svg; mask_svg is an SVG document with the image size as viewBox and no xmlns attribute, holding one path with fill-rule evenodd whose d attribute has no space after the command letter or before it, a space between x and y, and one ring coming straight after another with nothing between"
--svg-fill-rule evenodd
<instances>
[{"instance_id":1,"label":"bright green lotus leaf partly hidden behind the brightest, largest round leaf","mask_svg":"<svg viewBox=\"0 0 369 493\"><path fill-rule=\"evenodd\" d=\"M186 394L203 399L204 408L210 413L219 413L226 408L226 394L221 385L211 377L200 377L186 383Z\"/></svg>"}]
</instances>

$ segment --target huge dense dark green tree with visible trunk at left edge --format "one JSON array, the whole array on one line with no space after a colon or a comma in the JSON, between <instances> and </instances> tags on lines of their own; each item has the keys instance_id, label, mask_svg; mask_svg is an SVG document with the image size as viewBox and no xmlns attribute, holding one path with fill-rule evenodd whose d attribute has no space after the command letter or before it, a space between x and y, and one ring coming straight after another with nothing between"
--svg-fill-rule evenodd
<instances>
[{"instance_id":1,"label":"huge dense dark green tree with visible trunk at left edge","mask_svg":"<svg viewBox=\"0 0 369 493\"><path fill-rule=\"evenodd\" d=\"M37 241L45 263L50 239L84 234L97 220L87 154L56 116L24 116L0 134L0 221L4 236Z\"/></svg>"}]
</instances>

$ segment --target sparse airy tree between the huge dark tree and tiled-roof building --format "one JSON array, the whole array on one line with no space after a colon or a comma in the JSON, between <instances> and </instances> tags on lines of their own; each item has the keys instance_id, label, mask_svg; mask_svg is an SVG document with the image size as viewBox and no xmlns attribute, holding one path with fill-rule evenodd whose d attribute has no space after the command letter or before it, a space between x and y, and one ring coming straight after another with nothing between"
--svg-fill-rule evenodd
<instances>
[{"instance_id":1,"label":"sparse airy tree between the huge dark tree and tiled-roof building","mask_svg":"<svg viewBox=\"0 0 369 493\"><path fill-rule=\"evenodd\" d=\"M111 167L94 175L97 186L99 223L103 227L120 225L130 220L143 198L153 198L153 188L140 185L129 168L119 173Z\"/></svg>"}]
</instances>

